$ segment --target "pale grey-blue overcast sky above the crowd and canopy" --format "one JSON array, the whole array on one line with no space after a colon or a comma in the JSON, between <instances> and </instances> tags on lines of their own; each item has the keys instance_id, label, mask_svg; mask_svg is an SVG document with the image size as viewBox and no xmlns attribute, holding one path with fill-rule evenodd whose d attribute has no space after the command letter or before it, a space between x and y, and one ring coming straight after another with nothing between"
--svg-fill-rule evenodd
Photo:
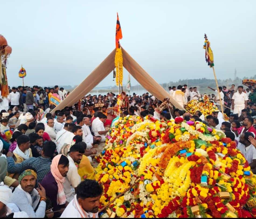
<instances>
[{"instance_id":1,"label":"pale grey-blue overcast sky above the crowd and canopy","mask_svg":"<svg viewBox=\"0 0 256 219\"><path fill-rule=\"evenodd\" d=\"M77 85L115 47L116 12L124 49L159 83L213 78L204 59L211 42L217 77L256 74L255 0L9 0L0 34L12 47L9 85ZM98 86L114 85L110 74ZM124 84L127 72L124 72ZM132 78L132 85L137 82Z\"/></svg>"}]
</instances>

